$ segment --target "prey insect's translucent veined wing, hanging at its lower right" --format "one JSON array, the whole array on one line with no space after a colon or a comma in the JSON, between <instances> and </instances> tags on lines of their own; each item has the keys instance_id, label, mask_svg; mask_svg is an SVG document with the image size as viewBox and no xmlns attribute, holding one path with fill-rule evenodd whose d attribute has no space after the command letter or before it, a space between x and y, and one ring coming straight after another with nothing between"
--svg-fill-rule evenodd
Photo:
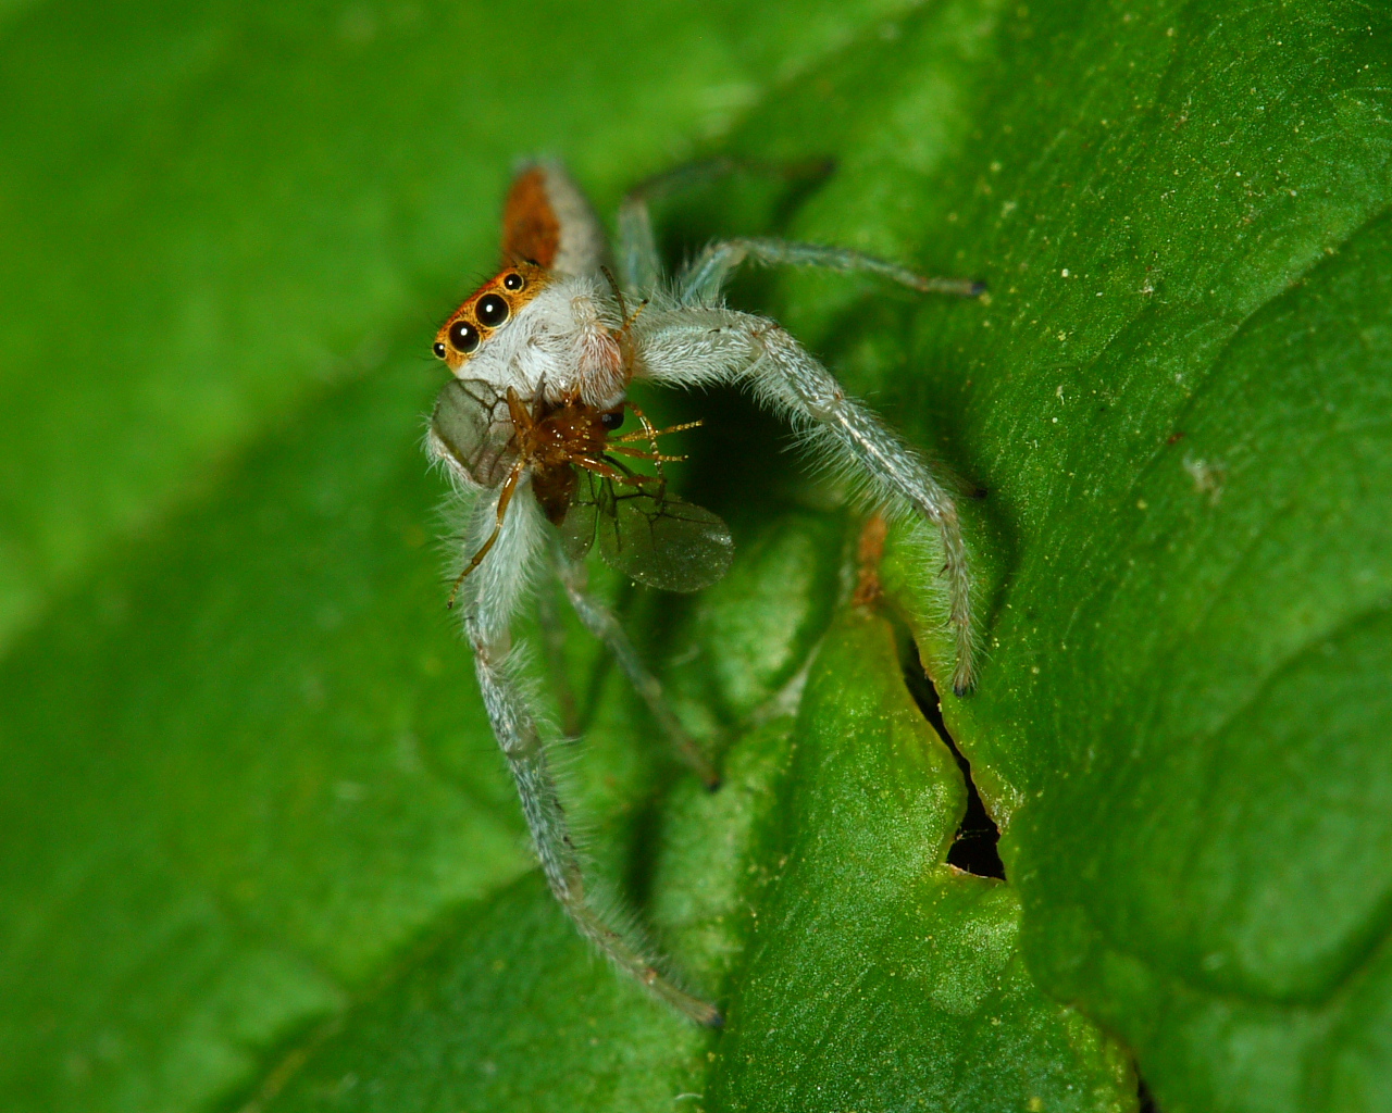
<instances>
[{"instance_id":1,"label":"prey insect's translucent veined wing, hanging at its lower right","mask_svg":"<svg viewBox=\"0 0 1392 1113\"><path fill-rule=\"evenodd\" d=\"M729 527L656 484L604 480L596 504L600 555L629 579L663 591L699 591L729 569Z\"/></svg>"}]
</instances>

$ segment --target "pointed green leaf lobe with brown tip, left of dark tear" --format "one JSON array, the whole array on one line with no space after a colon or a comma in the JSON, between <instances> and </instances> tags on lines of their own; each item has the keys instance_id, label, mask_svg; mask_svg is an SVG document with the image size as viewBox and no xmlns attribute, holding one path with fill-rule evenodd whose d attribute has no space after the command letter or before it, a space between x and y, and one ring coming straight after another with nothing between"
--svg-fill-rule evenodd
<instances>
[{"instance_id":1,"label":"pointed green leaf lobe with brown tip, left of dark tear","mask_svg":"<svg viewBox=\"0 0 1392 1113\"><path fill-rule=\"evenodd\" d=\"M713 1106L1132 1107L1125 1059L1025 971L1013 892L945 864L965 790L896 665L864 616L817 652Z\"/></svg>"}]
</instances>

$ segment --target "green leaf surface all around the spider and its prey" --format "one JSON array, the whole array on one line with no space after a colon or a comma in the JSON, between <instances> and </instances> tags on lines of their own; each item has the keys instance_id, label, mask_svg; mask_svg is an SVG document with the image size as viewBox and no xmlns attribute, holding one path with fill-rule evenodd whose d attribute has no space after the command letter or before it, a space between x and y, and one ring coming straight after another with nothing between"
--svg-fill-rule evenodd
<instances>
[{"instance_id":1,"label":"green leaf surface all around the spider and its prey","mask_svg":"<svg viewBox=\"0 0 1392 1113\"><path fill-rule=\"evenodd\" d=\"M0 4L0 1107L1392 1107L1389 71L1299 0ZM535 153L830 156L664 246L990 282L732 296L986 493L1004 881L931 561L852 611L785 431L643 399L739 555L596 577L727 782L574 627L562 764L718 1035L553 907L443 611L427 345Z\"/></svg>"}]
</instances>

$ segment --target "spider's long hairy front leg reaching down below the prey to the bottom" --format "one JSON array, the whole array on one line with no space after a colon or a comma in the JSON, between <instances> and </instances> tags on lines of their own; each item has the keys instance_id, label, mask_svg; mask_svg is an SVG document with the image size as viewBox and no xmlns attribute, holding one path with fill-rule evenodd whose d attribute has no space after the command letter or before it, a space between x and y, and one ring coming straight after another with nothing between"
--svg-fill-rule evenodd
<instances>
[{"instance_id":1,"label":"spider's long hairy front leg reaching down below the prey to the bottom","mask_svg":"<svg viewBox=\"0 0 1392 1113\"><path fill-rule=\"evenodd\" d=\"M497 518L497 498L480 498L469 527L477 538ZM580 856L571 838L547 760L546 743L511 657L511 619L546 544L546 520L536 499L519 498L503 520L489 559L464 582L464 627L473 648L483 705L522 799L532 844L553 895L579 928L619 970L692 1020L717 1027L720 1011L678 989L654 960L606 921L586 895Z\"/></svg>"}]
</instances>

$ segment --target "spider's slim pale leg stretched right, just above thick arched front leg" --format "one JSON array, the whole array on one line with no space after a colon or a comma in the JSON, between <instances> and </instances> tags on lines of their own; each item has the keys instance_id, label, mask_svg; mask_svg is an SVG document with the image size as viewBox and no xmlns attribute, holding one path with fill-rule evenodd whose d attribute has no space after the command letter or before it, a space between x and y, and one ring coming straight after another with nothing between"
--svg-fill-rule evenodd
<instances>
[{"instance_id":1,"label":"spider's slim pale leg stretched right, just above thick arched front leg","mask_svg":"<svg viewBox=\"0 0 1392 1113\"><path fill-rule=\"evenodd\" d=\"M682 305L704 305L714 301L729 281L729 275L745 262L766 267L821 267L842 274L878 274L922 294L974 298L986 291L983 282L970 278L926 278L896 263L848 248L827 248L788 239L725 239L711 243L686 264L677 280L678 301Z\"/></svg>"}]
</instances>

